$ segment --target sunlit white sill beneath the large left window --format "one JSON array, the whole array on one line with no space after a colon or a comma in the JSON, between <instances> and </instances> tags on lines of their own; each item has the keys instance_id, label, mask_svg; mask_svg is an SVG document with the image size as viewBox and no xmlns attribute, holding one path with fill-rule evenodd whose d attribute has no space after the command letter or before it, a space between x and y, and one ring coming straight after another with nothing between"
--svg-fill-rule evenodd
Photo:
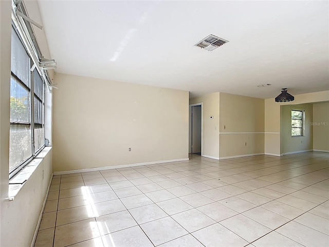
<instances>
[{"instance_id":1,"label":"sunlit white sill beneath the large left window","mask_svg":"<svg viewBox=\"0 0 329 247\"><path fill-rule=\"evenodd\" d=\"M8 200L13 201L33 172L38 168L43 158L51 150L51 147L45 147L33 160L20 170L14 177L9 180Z\"/></svg>"}]
</instances>

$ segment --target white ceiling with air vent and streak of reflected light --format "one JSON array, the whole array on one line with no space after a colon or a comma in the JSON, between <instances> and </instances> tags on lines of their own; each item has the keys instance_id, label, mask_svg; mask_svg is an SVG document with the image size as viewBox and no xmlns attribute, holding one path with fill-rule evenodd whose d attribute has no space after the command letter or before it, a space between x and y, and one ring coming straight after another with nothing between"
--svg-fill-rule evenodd
<instances>
[{"instance_id":1,"label":"white ceiling with air vent and streak of reflected light","mask_svg":"<svg viewBox=\"0 0 329 247\"><path fill-rule=\"evenodd\" d=\"M272 98L329 90L328 1L39 1L59 73ZM229 43L207 51L209 34ZM271 86L257 87L270 83Z\"/></svg>"}]
</instances>

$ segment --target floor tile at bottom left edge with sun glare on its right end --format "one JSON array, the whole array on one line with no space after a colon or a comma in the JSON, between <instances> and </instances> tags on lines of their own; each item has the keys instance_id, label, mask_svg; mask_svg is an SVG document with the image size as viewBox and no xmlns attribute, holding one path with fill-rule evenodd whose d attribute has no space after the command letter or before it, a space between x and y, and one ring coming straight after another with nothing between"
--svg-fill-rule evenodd
<instances>
[{"instance_id":1,"label":"floor tile at bottom left edge with sun glare on its right end","mask_svg":"<svg viewBox=\"0 0 329 247\"><path fill-rule=\"evenodd\" d=\"M54 247L67 246L99 236L95 219L65 224L56 227Z\"/></svg>"}]
</instances>

